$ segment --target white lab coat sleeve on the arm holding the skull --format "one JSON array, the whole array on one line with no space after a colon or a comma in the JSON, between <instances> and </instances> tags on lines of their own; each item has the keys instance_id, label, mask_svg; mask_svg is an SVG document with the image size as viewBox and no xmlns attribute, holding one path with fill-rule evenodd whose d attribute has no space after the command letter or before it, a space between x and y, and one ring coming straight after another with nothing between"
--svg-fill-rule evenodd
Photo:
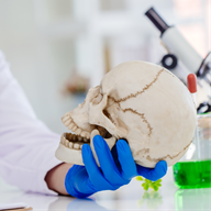
<instances>
[{"instance_id":1,"label":"white lab coat sleeve on the arm holding the skull","mask_svg":"<svg viewBox=\"0 0 211 211\"><path fill-rule=\"evenodd\" d=\"M0 176L24 191L57 195L45 182L59 135L41 122L0 52Z\"/></svg>"}]
</instances>

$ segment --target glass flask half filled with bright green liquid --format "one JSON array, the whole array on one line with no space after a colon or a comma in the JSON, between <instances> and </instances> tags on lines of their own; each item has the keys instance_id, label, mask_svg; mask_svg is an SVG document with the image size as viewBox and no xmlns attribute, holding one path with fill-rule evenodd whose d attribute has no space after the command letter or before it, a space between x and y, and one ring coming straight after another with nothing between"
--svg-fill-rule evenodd
<instances>
[{"instance_id":1,"label":"glass flask half filled with bright green liquid","mask_svg":"<svg viewBox=\"0 0 211 211\"><path fill-rule=\"evenodd\" d=\"M181 189L211 187L211 113L198 115L197 130L188 152L173 167Z\"/></svg>"}]
</instances>

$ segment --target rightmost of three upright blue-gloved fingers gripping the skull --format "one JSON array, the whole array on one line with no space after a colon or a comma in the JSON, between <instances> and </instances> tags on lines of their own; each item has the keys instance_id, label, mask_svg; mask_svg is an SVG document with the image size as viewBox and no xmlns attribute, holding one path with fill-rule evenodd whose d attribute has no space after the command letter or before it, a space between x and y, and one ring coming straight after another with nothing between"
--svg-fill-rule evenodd
<instances>
[{"instance_id":1,"label":"rightmost of three upright blue-gloved fingers gripping the skull","mask_svg":"<svg viewBox=\"0 0 211 211\"><path fill-rule=\"evenodd\" d=\"M116 143L118 157L121 164L121 175L124 179L131 180L133 177L137 176L137 169L131 148L124 140L119 140Z\"/></svg>"}]
</instances>

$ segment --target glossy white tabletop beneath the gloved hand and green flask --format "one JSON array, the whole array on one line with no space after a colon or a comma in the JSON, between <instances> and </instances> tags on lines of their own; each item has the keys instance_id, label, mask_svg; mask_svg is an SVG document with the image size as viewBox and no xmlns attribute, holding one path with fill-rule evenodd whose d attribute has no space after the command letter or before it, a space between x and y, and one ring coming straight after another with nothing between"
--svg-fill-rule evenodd
<instances>
[{"instance_id":1,"label":"glossy white tabletop beneath the gloved hand and green flask","mask_svg":"<svg viewBox=\"0 0 211 211\"><path fill-rule=\"evenodd\" d=\"M0 203L24 202L37 211L133 211L133 210L189 210L211 211L211 188L178 189L173 179L173 169L163 178L157 193L144 192L141 181L132 180L119 190L98 192L89 199L53 197L25 193L0 181Z\"/></svg>"}]
</instances>

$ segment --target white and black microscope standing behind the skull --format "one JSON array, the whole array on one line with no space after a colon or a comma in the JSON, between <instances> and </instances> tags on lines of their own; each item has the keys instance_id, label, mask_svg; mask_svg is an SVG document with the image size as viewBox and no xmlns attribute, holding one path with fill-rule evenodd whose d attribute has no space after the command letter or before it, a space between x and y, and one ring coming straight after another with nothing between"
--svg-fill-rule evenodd
<instances>
[{"instance_id":1,"label":"white and black microscope standing behind the skull","mask_svg":"<svg viewBox=\"0 0 211 211\"><path fill-rule=\"evenodd\" d=\"M196 74L197 82L203 88L206 85L211 89L211 52L206 58L202 58L188 41L181 35L176 26L169 26L160 15L151 8L145 15L160 32L160 40L167 49L167 54L160 60L160 65L174 75L176 75L184 84L187 84L187 76ZM208 101L201 103L197 111L206 113L211 111L211 93L208 92Z\"/></svg>"}]
</instances>

